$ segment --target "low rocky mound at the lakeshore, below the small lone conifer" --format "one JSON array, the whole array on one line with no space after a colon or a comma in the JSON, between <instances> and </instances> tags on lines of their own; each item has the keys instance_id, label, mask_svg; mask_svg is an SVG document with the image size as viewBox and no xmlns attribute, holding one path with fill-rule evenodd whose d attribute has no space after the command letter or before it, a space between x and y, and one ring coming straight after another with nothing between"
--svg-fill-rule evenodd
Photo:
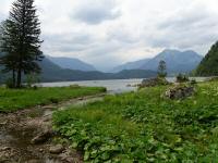
<instances>
[{"instance_id":1,"label":"low rocky mound at the lakeshore, below the small lone conifer","mask_svg":"<svg viewBox=\"0 0 218 163\"><path fill-rule=\"evenodd\" d=\"M169 85L170 83L167 82L166 78L160 78L160 77L156 77L156 78L148 78L148 79L144 79L142 82L142 84L140 85L140 88L144 88L144 87L155 87L155 86L166 86Z\"/></svg>"}]
</instances>

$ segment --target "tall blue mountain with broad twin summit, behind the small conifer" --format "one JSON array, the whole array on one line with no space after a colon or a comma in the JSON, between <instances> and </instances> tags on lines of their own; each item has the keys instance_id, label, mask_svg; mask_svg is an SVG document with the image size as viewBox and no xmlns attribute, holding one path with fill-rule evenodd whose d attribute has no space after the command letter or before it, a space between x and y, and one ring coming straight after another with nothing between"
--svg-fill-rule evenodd
<instances>
[{"instance_id":1,"label":"tall blue mountain with broad twin summit, behind the small conifer","mask_svg":"<svg viewBox=\"0 0 218 163\"><path fill-rule=\"evenodd\" d=\"M178 50L164 50L141 66L141 68L157 71L159 61L164 60L167 63L167 72L169 74L190 73L197 67L202 59L202 55L192 50L183 52Z\"/></svg>"}]
</instances>

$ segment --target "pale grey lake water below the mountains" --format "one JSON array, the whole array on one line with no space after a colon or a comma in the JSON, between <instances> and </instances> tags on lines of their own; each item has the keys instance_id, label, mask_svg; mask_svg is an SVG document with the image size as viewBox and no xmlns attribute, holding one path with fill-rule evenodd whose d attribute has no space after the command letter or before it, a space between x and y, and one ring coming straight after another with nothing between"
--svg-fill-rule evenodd
<instances>
[{"instance_id":1,"label":"pale grey lake water below the mountains","mask_svg":"<svg viewBox=\"0 0 218 163\"><path fill-rule=\"evenodd\" d=\"M174 77L168 77L169 82L174 82ZM205 77L195 77L197 82L203 82ZM88 86L88 87L106 87L108 92L110 93L120 93L126 91L134 91L137 88L133 87L135 85L141 84L143 78L141 79L111 79L111 80L84 80L84 82L62 82L62 83L44 83L40 84L43 87L65 87L70 85L80 85L80 86Z\"/></svg>"}]
</instances>

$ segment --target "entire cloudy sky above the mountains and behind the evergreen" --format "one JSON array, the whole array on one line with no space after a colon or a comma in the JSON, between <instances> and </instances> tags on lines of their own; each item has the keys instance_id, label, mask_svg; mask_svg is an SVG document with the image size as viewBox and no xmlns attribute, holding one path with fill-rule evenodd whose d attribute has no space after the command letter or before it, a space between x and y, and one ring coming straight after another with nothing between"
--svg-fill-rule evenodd
<instances>
[{"instance_id":1,"label":"entire cloudy sky above the mountains and behind the evergreen","mask_svg":"<svg viewBox=\"0 0 218 163\"><path fill-rule=\"evenodd\" d=\"M0 21L14 0L0 1ZM164 49L204 55L218 40L217 0L35 0L41 50L100 71Z\"/></svg>"}]
</instances>

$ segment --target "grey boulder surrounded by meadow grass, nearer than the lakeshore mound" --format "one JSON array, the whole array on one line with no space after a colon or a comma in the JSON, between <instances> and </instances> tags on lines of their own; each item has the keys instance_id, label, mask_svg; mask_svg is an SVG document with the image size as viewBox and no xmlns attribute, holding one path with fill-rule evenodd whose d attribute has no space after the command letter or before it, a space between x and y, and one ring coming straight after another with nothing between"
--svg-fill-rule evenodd
<instances>
[{"instance_id":1,"label":"grey boulder surrounded by meadow grass, nearer than the lakeshore mound","mask_svg":"<svg viewBox=\"0 0 218 163\"><path fill-rule=\"evenodd\" d=\"M194 95L194 92L195 89L192 86L175 86L169 88L169 90L166 91L165 96L172 100L179 100L191 97Z\"/></svg>"}]
</instances>

